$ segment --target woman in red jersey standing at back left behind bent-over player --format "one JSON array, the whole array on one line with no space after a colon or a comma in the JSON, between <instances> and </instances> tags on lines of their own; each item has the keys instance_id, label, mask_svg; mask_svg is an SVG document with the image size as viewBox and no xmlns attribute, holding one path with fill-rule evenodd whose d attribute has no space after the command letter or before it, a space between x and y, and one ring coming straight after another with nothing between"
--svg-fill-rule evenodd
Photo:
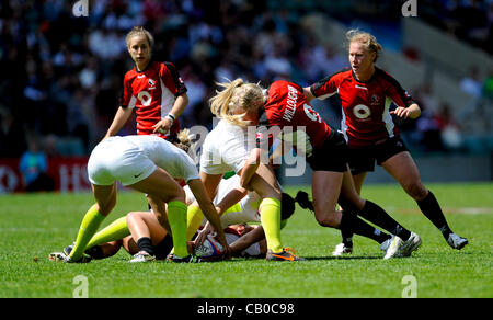
<instances>
[{"instance_id":1,"label":"woman in red jersey standing at back left behind bent-over player","mask_svg":"<svg viewBox=\"0 0 493 320\"><path fill-rule=\"evenodd\" d=\"M119 107L104 138L116 135L134 108L138 135L169 138L180 130L176 117L188 104L185 83L173 64L151 59L153 37L148 31L135 26L126 42L135 68L125 75Z\"/></svg>"}]
</instances>

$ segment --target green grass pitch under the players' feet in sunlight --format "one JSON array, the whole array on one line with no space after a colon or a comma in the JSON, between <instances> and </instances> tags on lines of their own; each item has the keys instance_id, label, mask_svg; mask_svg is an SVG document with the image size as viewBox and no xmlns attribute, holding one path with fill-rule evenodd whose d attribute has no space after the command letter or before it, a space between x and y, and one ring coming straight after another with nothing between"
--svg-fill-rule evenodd
<instances>
[{"instance_id":1,"label":"green grass pitch under the players' feet in sunlight","mask_svg":"<svg viewBox=\"0 0 493 320\"><path fill-rule=\"evenodd\" d=\"M72 297L87 279L89 297L320 298L493 297L493 184L427 184L457 233L469 239L450 249L397 184L367 185L363 195L422 237L409 259L382 260L379 245L355 236L355 252L333 259L337 230L297 212L282 232L285 245L308 260L297 263L233 259L203 264L129 264L124 250L89 264L48 261L77 235L92 194L0 196L0 297ZM303 187L309 191L309 187ZM296 188L287 192L295 194ZM121 192L104 226L130 210L146 209L141 194ZM413 282L408 282L411 279Z\"/></svg>"}]
</instances>

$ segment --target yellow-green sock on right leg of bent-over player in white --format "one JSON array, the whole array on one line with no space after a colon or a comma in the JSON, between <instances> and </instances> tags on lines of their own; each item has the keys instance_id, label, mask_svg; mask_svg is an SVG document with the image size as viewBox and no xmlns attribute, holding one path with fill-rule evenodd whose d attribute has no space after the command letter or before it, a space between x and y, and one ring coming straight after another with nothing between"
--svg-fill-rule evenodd
<instances>
[{"instance_id":1,"label":"yellow-green sock on right leg of bent-over player in white","mask_svg":"<svg viewBox=\"0 0 493 320\"><path fill-rule=\"evenodd\" d=\"M188 255L186 248L186 205L174 201L168 203L168 221L173 236L174 254L180 258Z\"/></svg>"}]
</instances>

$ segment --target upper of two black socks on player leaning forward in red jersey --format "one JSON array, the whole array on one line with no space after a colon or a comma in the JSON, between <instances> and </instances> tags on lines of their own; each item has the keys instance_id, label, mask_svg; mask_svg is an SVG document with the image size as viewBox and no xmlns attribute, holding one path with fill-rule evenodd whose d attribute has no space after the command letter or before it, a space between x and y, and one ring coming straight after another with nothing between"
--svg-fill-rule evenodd
<instances>
[{"instance_id":1,"label":"upper of two black socks on player leaning forward in red jersey","mask_svg":"<svg viewBox=\"0 0 493 320\"><path fill-rule=\"evenodd\" d=\"M399 225L399 222L389 216L386 210L370 201L366 201L363 209L358 212L358 216L365 218L371 224L377 225L383 230L398 236L404 241L411 237L411 231Z\"/></svg>"}]
</instances>

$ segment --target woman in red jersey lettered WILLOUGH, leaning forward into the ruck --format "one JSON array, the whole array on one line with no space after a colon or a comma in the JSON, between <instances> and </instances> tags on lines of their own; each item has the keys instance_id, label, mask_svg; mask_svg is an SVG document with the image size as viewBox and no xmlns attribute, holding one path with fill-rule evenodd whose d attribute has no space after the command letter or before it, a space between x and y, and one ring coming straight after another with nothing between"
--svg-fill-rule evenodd
<instances>
[{"instance_id":1,"label":"woman in red jersey lettered WILLOUGH, leaning forward into the ruck","mask_svg":"<svg viewBox=\"0 0 493 320\"><path fill-rule=\"evenodd\" d=\"M298 151L305 151L307 162L313 170L312 195L317 221L323 227L352 231L381 244L386 243L386 259L410 255L417 247L402 247L401 238L408 239L412 232L400 226L381 207L357 194L346 162L347 146L344 137L313 111L303 95L302 88L288 81L275 81L264 95L260 85L248 84L248 91L259 93L245 92L246 89L242 88L244 83L238 80L221 84L232 92L232 98L225 102L225 110L234 111L233 114L242 115L244 121L257 126L257 146L252 149L241 169L241 185L249 187L275 136L286 138L287 132L296 133L297 137L306 137L302 141L297 138L295 147ZM284 130L283 134L280 130ZM268 147L264 148L266 140ZM335 209L337 202L343 205L344 214ZM356 215L398 237L391 238Z\"/></svg>"}]
</instances>

